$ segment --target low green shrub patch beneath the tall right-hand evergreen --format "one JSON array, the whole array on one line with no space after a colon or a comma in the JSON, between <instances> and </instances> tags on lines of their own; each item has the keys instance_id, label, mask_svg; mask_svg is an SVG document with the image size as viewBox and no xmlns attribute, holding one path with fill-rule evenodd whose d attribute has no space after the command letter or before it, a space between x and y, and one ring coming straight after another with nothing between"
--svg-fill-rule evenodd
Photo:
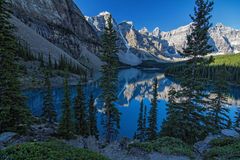
<instances>
[{"instance_id":1,"label":"low green shrub patch beneath the tall right-hand evergreen","mask_svg":"<svg viewBox=\"0 0 240 160\"><path fill-rule=\"evenodd\" d=\"M130 148L140 148L146 152L159 152L169 155L185 155L192 157L193 149L183 141L172 138L163 137L151 142L133 143Z\"/></svg>"}]
</instances>

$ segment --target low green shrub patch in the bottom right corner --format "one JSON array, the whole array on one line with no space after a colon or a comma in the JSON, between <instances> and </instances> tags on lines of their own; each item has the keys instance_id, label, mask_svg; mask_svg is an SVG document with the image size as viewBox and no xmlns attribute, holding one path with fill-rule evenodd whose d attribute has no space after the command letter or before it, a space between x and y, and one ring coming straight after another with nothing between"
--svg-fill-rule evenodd
<instances>
[{"instance_id":1,"label":"low green shrub patch in the bottom right corner","mask_svg":"<svg viewBox=\"0 0 240 160\"><path fill-rule=\"evenodd\" d=\"M240 139L221 138L210 142L211 148L205 154L205 159L240 159Z\"/></svg>"}]
</instances>

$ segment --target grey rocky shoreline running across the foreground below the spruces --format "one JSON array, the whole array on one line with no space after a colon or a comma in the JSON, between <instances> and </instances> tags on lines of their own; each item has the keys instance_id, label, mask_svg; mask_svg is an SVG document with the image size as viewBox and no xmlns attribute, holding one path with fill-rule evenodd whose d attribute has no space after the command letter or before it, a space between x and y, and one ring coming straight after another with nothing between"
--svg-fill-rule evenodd
<instances>
[{"instance_id":1,"label":"grey rocky shoreline running across the foreground below the spruces","mask_svg":"<svg viewBox=\"0 0 240 160\"><path fill-rule=\"evenodd\" d=\"M76 148L84 148L90 151L100 153L111 160L188 160L192 157L181 155L166 155L158 152L146 152L137 147L129 147L134 140L127 138L120 139L110 144L104 144L95 137L80 137L74 139L63 140L57 138L57 124L35 124L29 129L28 135L21 136L14 132L5 132L0 134L0 150L4 150L9 146L20 145L26 142L44 142L49 140L59 140ZM240 138L236 130L225 129L217 135L209 135L203 141L193 145L194 159L203 159L203 155L210 149L210 142L214 139L232 137Z\"/></svg>"}]
</instances>

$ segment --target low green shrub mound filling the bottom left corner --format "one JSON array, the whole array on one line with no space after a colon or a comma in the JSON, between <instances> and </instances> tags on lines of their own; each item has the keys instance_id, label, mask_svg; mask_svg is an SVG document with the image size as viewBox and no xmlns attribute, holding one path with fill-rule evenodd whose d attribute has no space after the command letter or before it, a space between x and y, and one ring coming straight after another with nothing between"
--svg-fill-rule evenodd
<instances>
[{"instance_id":1,"label":"low green shrub mound filling the bottom left corner","mask_svg":"<svg viewBox=\"0 0 240 160\"><path fill-rule=\"evenodd\" d=\"M107 160L86 149L74 148L62 142L24 143L0 151L4 160Z\"/></svg>"}]
</instances>

